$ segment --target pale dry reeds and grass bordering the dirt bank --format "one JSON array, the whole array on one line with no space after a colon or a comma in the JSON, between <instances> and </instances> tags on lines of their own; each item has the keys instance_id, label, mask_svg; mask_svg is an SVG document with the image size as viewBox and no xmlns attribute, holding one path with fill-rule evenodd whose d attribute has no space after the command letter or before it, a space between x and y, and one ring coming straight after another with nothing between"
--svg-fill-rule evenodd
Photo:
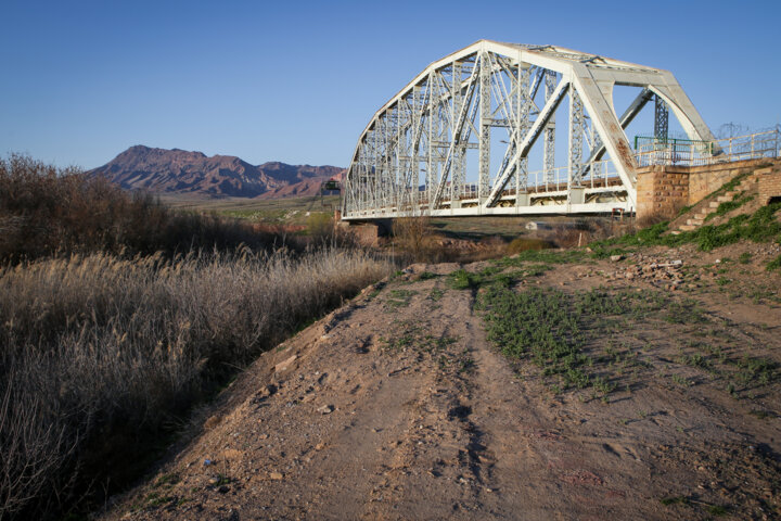
<instances>
[{"instance_id":1,"label":"pale dry reeds and grass bordering the dirt bank","mask_svg":"<svg viewBox=\"0 0 781 521\"><path fill-rule=\"evenodd\" d=\"M389 270L332 249L0 269L0 518L56 511L91 481L127 483L166 421Z\"/></svg>"}]
</instances>

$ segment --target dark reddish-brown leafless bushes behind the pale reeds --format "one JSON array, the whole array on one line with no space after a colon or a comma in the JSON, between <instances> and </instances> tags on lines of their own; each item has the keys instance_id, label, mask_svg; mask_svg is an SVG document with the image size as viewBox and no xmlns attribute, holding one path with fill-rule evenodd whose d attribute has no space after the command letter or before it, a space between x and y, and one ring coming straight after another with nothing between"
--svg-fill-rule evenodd
<instances>
[{"instance_id":1,"label":"dark reddish-brown leafless bushes behind the pale reeds","mask_svg":"<svg viewBox=\"0 0 781 521\"><path fill-rule=\"evenodd\" d=\"M18 154L0 158L0 259L93 251L172 255L281 242L279 233L236 219L171 212L150 194L129 194L76 168Z\"/></svg>"}]
</instances>

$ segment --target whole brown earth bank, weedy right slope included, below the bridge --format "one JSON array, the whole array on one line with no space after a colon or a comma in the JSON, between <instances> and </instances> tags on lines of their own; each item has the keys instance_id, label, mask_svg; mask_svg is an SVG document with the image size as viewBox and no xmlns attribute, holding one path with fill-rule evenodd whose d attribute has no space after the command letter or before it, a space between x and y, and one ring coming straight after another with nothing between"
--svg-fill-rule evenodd
<instances>
[{"instance_id":1,"label":"whole brown earth bank, weedy right slope included, below the bridge","mask_svg":"<svg viewBox=\"0 0 781 521\"><path fill-rule=\"evenodd\" d=\"M756 247L414 265L264 355L104 516L778 518L779 278ZM491 283L572 302L591 383L500 353Z\"/></svg>"}]
</instances>

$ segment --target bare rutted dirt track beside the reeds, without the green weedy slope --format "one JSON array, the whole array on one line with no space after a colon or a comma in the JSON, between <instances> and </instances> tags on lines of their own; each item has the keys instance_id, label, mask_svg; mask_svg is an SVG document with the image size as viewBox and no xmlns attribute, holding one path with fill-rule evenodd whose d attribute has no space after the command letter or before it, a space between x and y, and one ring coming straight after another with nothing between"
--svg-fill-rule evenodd
<instances>
[{"instance_id":1,"label":"bare rutted dirt track beside the reeds, without the green weedy slope","mask_svg":"<svg viewBox=\"0 0 781 521\"><path fill-rule=\"evenodd\" d=\"M538 370L512 367L487 342L476 290L420 277L457 267L415 266L263 356L203 433L105 517L778 516L777 386L769 418L716 384L671 390L656 369L610 403L552 394ZM574 274L539 281L605 282ZM756 342L770 342L781 314L763 317ZM671 331L637 335L664 347ZM663 347L646 364L666 367Z\"/></svg>"}]
</instances>

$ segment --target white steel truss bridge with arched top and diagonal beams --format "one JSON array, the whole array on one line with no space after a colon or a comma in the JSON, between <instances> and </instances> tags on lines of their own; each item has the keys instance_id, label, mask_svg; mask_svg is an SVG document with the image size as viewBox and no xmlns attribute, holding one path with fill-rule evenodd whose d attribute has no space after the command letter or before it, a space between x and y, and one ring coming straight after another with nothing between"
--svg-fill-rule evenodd
<instances>
[{"instance_id":1,"label":"white steel truss bridge with arched top and diagonal beams","mask_svg":"<svg viewBox=\"0 0 781 521\"><path fill-rule=\"evenodd\" d=\"M616 85L641 89L620 115ZM554 46L477 41L428 65L374 114L347 170L342 218L633 212L639 158L625 129L652 100L656 138L666 138L671 110L692 142L720 153L667 71ZM558 112L568 138L559 167ZM491 136L497 128L504 139Z\"/></svg>"}]
</instances>

